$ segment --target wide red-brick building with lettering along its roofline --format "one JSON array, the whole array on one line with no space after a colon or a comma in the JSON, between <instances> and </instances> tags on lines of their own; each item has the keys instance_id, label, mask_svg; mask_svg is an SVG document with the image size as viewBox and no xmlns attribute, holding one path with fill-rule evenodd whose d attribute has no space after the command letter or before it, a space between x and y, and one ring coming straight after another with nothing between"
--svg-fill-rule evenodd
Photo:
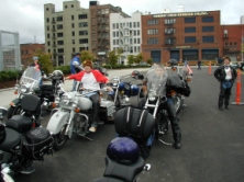
<instances>
[{"instance_id":1,"label":"wide red-brick building with lettering along its roofline","mask_svg":"<svg viewBox=\"0 0 244 182\"><path fill-rule=\"evenodd\" d=\"M220 11L142 15L144 59L214 60L223 55Z\"/></svg>"}]
</instances>

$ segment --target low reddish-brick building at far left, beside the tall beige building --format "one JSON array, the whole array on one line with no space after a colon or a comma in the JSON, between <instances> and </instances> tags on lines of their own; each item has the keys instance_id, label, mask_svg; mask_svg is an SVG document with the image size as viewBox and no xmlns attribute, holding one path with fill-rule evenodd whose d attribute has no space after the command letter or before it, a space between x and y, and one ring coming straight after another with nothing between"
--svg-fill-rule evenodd
<instances>
[{"instance_id":1,"label":"low reddish-brick building at far left, beside the tall beige building","mask_svg":"<svg viewBox=\"0 0 244 182\"><path fill-rule=\"evenodd\" d=\"M32 57L34 53L38 49L45 52L45 44L21 44L21 64L26 67L32 62Z\"/></svg>"}]
</instances>

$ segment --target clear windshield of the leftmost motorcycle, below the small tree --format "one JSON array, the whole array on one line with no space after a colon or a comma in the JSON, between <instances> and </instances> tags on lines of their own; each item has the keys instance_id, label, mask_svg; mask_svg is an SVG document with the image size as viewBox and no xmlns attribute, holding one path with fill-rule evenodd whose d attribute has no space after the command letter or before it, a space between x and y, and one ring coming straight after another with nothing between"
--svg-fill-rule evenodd
<instances>
[{"instance_id":1,"label":"clear windshield of the leftmost motorcycle, below the small tree","mask_svg":"<svg viewBox=\"0 0 244 182\"><path fill-rule=\"evenodd\" d=\"M37 88L42 78L41 70L35 67L29 67L23 72L20 79L20 86L25 86L29 89Z\"/></svg>"}]
</instances>

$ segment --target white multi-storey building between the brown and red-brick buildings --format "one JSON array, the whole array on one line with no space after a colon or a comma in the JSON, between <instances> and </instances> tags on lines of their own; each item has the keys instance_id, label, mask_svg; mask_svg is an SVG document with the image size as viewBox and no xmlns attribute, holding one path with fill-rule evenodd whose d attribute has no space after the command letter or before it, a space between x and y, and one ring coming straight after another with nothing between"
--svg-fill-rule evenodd
<instances>
[{"instance_id":1,"label":"white multi-storey building between the brown and red-brick buildings","mask_svg":"<svg viewBox=\"0 0 244 182\"><path fill-rule=\"evenodd\" d=\"M138 55L142 44L141 12L134 12L131 18L120 13L110 13L110 45L111 50L123 49L119 65L126 65L127 55Z\"/></svg>"}]
</instances>

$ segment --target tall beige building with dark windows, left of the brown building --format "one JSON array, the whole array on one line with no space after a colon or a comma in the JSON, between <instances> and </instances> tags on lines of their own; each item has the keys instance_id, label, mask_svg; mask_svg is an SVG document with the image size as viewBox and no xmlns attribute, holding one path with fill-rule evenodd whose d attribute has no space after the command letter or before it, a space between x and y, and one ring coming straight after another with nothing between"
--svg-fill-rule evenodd
<instances>
[{"instance_id":1,"label":"tall beige building with dark windows, left of the brown building","mask_svg":"<svg viewBox=\"0 0 244 182\"><path fill-rule=\"evenodd\" d=\"M45 48L54 65L67 65L76 53L90 49L89 15L79 1L64 1L57 12L54 4L44 4Z\"/></svg>"}]
</instances>

